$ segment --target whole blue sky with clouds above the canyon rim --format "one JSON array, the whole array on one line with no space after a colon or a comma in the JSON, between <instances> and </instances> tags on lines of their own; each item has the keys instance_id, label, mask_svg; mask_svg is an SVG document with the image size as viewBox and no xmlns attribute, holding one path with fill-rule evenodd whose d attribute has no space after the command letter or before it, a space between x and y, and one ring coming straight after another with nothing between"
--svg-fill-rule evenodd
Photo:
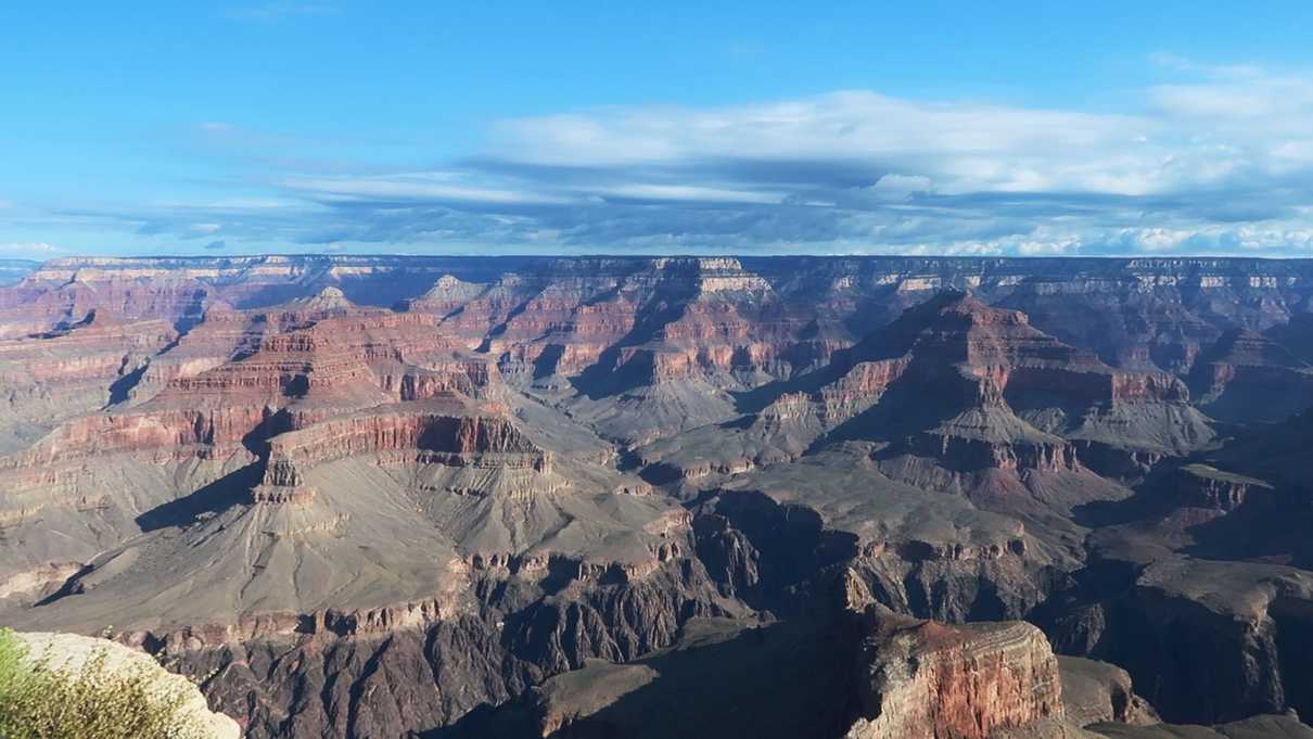
<instances>
[{"instance_id":1,"label":"whole blue sky with clouds above the canyon rim","mask_svg":"<svg viewBox=\"0 0 1313 739\"><path fill-rule=\"evenodd\" d=\"M1306 1L12 3L0 256L1313 256L1309 28Z\"/></svg>"}]
</instances>

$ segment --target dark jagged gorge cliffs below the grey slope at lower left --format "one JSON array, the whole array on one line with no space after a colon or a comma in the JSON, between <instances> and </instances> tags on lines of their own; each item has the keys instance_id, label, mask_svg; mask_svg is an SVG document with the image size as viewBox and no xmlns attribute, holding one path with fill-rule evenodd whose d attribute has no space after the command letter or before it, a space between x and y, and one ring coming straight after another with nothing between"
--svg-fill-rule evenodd
<instances>
[{"instance_id":1,"label":"dark jagged gorge cliffs below the grey slope at lower left","mask_svg":"<svg viewBox=\"0 0 1313 739\"><path fill-rule=\"evenodd\" d=\"M675 562L641 583L591 581L541 600L513 583L490 583L482 614L433 621L411 609L369 629L324 614L311 635L176 641L183 648L169 654L218 671L210 700L246 717L249 736L394 736L504 702L592 658L634 659L674 641L688 618L722 613L696 566Z\"/></svg>"}]
</instances>

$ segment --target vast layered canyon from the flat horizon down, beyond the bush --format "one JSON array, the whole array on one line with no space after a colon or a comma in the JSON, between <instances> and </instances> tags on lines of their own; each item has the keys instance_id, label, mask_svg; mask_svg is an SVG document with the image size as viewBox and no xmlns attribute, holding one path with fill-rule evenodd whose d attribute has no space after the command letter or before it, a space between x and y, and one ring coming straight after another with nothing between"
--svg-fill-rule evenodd
<instances>
[{"instance_id":1,"label":"vast layered canyon from the flat horizon down, beyond the bush","mask_svg":"<svg viewBox=\"0 0 1313 739\"><path fill-rule=\"evenodd\" d=\"M0 266L0 625L246 736L1313 736L1313 261Z\"/></svg>"}]
</instances>

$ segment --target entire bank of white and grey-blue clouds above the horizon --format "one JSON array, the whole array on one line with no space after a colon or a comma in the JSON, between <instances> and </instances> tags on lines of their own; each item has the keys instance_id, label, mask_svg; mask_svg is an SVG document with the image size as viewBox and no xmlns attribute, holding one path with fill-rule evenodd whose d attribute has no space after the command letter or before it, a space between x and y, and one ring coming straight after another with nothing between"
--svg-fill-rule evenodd
<instances>
[{"instance_id":1,"label":"entire bank of white and grey-blue clouds above the horizon","mask_svg":"<svg viewBox=\"0 0 1313 739\"><path fill-rule=\"evenodd\" d=\"M71 213L211 249L1313 256L1313 77L1155 63L1179 79L1117 113L872 91L599 109L498 122L437 167L274 164L261 198Z\"/></svg>"}]
</instances>

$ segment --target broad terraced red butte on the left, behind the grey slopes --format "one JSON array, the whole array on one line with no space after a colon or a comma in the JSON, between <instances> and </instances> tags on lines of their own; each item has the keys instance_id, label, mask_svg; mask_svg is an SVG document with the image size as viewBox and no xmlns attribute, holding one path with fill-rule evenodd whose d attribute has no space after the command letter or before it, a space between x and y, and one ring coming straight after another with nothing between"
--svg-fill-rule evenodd
<instances>
[{"instance_id":1,"label":"broad terraced red butte on the left, behind the grey slopes","mask_svg":"<svg viewBox=\"0 0 1313 739\"><path fill-rule=\"evenodd\" d=\"M231 350L236 336L246 336L248 328L238 320L230 326L234 332L219 354ZM150 400L130 410L70 420L29 450L0 459L0 469L121 452L147 461L223 458L246 454L247 434L280 410L285 417L270 431L301 428L389 402L496 395L495 368L486 361L446 353L445 360L428 356L433 366L425 369L385 353L372 364L374 345L319 324L265 336L253 354L238 361L223 361L205 350L189 353L183 366L221 364L198 371L175 366L171 379ZM379 337L377 345L389 348L387 337ZM121 354L114 358L123 361ZM386 374L376 374L372 366Z\"/></svg>"}]
</instances>

